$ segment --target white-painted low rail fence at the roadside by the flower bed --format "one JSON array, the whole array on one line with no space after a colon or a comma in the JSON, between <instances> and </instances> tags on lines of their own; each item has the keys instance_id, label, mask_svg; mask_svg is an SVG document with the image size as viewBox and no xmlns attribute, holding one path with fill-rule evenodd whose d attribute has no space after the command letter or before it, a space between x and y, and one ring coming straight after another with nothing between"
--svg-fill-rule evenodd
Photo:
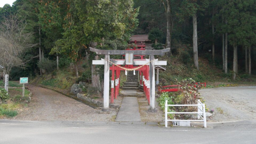
<instances>
[{"instance_id":1,"label":"white-painted low rail fence at the roadside by the flower bed","mask_svg":"<svg viewBox=\"0 0 256 144\"><path fill-rule=\"evenodd\" d=\"M167 112L168 106L197 106L197 112ZM197 120L167 119L167 114L197 114ZM203 114L203 117L201 116L202 114ZM205 104L198 99L197 105L168 105L166 100L165 101L165 127L167 127L168 121L197 121L197 122L199 121L199 122L203 122L203 127L206 127Z\"/></svg>"}]
</instances>

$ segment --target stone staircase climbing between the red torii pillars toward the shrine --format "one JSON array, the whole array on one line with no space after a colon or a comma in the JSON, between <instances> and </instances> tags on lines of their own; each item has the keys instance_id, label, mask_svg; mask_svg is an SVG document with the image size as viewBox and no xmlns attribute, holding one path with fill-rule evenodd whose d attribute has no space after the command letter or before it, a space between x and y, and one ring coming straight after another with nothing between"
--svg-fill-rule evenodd
<instances>
[{"instance_id":1,"label":"stone staircase climbing between the red torii pillars toward the shrine","mask_svg":"<svg viewBox=\"0 0 256 144\"><path fill-rule=\"evenodd\" d=\"M127 71L127 80L123 83L123 90L139 89L138 73L139 71L135 71L135 75L133 75L133 71Z\"/></svg>"}]
</instances>

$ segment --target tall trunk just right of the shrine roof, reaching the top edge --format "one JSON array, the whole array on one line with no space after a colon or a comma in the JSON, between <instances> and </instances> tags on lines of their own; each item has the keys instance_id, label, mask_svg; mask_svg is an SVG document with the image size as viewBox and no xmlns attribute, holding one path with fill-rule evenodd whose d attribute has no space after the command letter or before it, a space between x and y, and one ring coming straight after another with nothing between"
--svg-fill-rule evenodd
<instances>
[{"instance_id":1,"label":"tall trunk just right of the shrine roof, reaching the top edge","mask_svg":"<svg viewBox=\"0 0 256 144\"><path fill-rule=\"evenodd\" d=\"M170 2L169 0L166 0L167 2L167 8L166 8L166 43L165 43L165 48L171 48L171 7L170 7ZM171 50L170 50L171 54Z\"/></svg>"}]
</instances>

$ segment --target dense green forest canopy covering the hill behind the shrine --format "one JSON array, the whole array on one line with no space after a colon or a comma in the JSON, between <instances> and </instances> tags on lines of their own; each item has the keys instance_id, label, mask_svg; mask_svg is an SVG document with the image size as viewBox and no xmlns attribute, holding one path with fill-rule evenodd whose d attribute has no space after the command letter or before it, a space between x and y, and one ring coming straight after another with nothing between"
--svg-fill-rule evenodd
<instances>
[{"instance_id":1,"label":"dense green forest canopy covering the hill behind the shrine","mask_svg":"<svg viewBox=\"0 0 256 144\"><path fill-rule=\"evenodd\" d=\"M208 58L235 79L238 73L255 74L255 7L255 0L16 0L0 8L0 31L15 15L29 42L15 43L21 48L15 53L17 69L9 69L4 59L0 69L13 77L33 76L44 73L38 61L59 58L76 67L81 59L98 59L89 47L125 49L131 35L149 34L157 49L171 48L170 57L182 53L197 70L198 59ZM0 44L3 54L6 48Z\"/></svg>"}]
</instances>

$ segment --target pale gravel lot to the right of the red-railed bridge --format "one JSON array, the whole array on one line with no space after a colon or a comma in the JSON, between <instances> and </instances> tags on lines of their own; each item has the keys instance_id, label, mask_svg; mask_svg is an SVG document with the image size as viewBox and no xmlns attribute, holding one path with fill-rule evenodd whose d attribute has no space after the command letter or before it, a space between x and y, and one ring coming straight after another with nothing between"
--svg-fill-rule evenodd
<instances>
[{"instance_id":1,"label":"pale gravel lot to the right of the red-railed bridge","mask_svg":"<svg viewBox=\"0 0 256 144\"><path fill-rule=\"evenodd\" d=\"M256 119L256 86L202 89L209 110L214 109L211 121Z\"/></svg>"}]
</instances>

